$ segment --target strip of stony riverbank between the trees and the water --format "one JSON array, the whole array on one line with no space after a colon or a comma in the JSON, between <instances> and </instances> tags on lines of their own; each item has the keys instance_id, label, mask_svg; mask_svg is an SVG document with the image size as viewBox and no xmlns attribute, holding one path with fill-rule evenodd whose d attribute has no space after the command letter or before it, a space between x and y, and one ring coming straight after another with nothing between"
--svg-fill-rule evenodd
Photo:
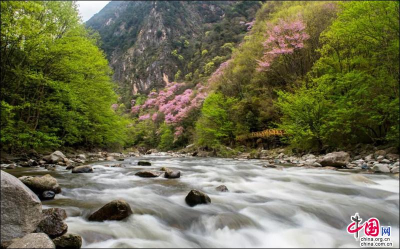
<instances>
[{"instance_id":1,"label":"strip of stony riverbank between the trees and the water","mask_svg":"<svg viewBox=\"0 0 400 249\"><path fill-rule=\"evenodd\" d=\"M72 169L75 166L87 164L93 161L123 161L127 157L139 157L142 155L161 155L172 157L223 157L236 159L262 159L265 167L275 167L278 164L287 164L296 167L322 168L330 170L353 170L366 173L391 173L399 177L399 154L394 147L377 148L370 145L358 146L347 151L334 151L326 154L293 153L288 148L252 149L247 152L226 148L229 153L204 151L195 148L192 144L178 151L146 150L144 148L131 148L124 152L107 152L96 150L84 151L67 149L65 155L42 154L35 150L25 153L9 155L1 152L1 168L15 167L45 167L53 170L57 166L67 166ZM243 149L245 151L245 149ZM54 158L51 158L54 157Z\"/></svg>"}]
</instances>

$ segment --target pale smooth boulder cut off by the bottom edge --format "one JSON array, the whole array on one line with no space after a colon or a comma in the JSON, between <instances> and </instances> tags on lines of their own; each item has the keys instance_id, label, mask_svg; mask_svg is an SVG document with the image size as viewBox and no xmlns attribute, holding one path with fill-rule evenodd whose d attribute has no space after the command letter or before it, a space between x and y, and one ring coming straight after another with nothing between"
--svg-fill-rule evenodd
<instances>
[{"instance_id":1,"label":"pale smooth boulder cut off by the bottom edge","mask_svg":"<svg viewBox=\"0 0 400 249\"><path fill-rule=\"evenodd\" d=\"M55 248L55 245L46 234L40 232L18 238L7 248Z\"/></svg>"}]
</instances>

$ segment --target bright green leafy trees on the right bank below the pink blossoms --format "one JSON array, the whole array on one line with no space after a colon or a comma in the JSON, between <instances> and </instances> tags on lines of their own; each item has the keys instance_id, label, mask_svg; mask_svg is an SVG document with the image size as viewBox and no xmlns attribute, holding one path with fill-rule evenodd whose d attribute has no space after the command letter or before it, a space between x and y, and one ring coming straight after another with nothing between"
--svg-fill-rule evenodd
<instances>
[{"instance_id":1,"label":"bright green leafy trees on the right bank below the pink blossoms","mask_svg":"<svg viewBox=\"0 0 400 249\"><path fill-rule=\"evenodd\" d=\"M392 143L399 134L399 12L395 1L350 1L320 37L310 79L280 92L282 128L311 147Z\"/></svg>"}]
</instances>

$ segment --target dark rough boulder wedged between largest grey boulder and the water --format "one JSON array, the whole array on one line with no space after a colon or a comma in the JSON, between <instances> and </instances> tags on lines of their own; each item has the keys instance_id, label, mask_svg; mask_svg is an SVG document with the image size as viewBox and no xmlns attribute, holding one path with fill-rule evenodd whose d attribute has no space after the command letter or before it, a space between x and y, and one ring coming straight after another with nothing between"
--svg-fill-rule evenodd
<instances>
[{"instance_id":1,"label":"dark rough boulder wedged between largest grey boulder and the water","mask_svg":"<svg viewBox=\"0 0 400 249\"><path fill-rule=\"evenodd\" d=\"M44 232L50 238L59 237L68 230L66 212L62 208L43 209L43 218L37 225L36 232Z\"/></svg>"}]
</instances>

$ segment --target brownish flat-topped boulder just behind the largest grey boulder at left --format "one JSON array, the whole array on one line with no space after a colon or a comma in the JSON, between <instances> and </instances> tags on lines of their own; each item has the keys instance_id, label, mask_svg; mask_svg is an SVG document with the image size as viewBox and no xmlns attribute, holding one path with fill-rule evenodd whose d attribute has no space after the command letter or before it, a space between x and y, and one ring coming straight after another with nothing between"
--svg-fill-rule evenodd
<instances>
[{"instance_id":1,"label":"brownish flat-topped boulder just behind the largest grey boulder at left","mask_svg":"<svg viewBox=\"0 0 400 249\"><path fill-rule=\"evenodd\" d=\"M27 177L22 182L37 194L41 194L46 190L53 191L54 193L61 192L61 187L58 185L57 179L49 174Z\"/></svg>"}]
</instances>

